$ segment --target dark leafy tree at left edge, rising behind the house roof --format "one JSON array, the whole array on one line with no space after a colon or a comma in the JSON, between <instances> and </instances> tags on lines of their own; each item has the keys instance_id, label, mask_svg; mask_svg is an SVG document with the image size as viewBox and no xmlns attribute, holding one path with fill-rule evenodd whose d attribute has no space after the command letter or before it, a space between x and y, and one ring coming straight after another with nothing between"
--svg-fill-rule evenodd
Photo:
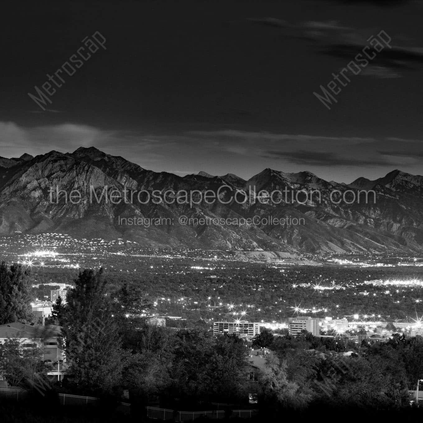
<instances>
[{"instance_id":1,"label":"dark leafy tree at left edge, rising behind the house roof","mask_svg":"<svg viewBox=\"0 0 423 423\"><path fill-rule=\"evenodd\" d=\"M3 261L0 265L0 324L15 321L30 321L31 285L29 270L14 264L8 268Z\"/></svg>"}]
</instances>

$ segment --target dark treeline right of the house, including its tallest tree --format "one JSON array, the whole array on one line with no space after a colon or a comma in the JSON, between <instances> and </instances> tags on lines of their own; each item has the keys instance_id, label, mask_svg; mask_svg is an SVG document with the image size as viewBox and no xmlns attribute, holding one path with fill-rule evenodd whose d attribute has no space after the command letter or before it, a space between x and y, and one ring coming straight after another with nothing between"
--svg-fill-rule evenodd
<instances>
[{"instance_id":1,"label":"dark treeline right of the house, including its tallest tree","mask_svg":"<svg viewBox=\"0 0 423 423\"><path fill-rule=\"evenodd\" d=\"M245 343L196 330L174 331L146 323L151 304L136 286L110 295L102 270L85 270L54 307L63 329L69 389L193 400L244 398L248 364Z\"/></svg>"}]
</instances>

